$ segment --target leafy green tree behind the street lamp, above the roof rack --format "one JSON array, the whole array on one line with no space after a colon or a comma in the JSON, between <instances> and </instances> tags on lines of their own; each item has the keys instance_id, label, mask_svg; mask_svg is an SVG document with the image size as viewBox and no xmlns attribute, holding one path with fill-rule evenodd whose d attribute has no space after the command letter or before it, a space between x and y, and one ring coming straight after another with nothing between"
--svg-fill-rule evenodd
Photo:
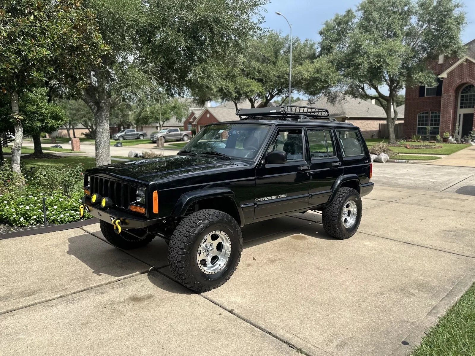
<instances>
[{"instance_id":1,"label":"leafy green tree behind the street lamp, above the roof rack","mask_svg":"<svg viewBox=\"0 0 475 356\"><path fill-rule=\"evenodd\" d=\"M275 31L249 41L248 48L232 66L221 67L217 82L204 85L193 94L200 102L210 99L237 103L248 100L251 107L267 106L274 98L288 99L290 37ZM292 40L292 88L304 85L302 66L316 58L316 45L298 37Z\"/></svg>"}]
</instances>

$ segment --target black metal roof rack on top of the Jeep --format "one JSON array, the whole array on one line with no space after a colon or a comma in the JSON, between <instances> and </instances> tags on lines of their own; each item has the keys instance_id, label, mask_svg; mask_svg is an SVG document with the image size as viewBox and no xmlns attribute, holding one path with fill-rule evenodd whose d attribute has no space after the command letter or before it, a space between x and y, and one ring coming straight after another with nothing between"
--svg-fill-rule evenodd
<instances>
[{"instance_id":1,"label":"black metal roof rack on top of the Jeep","mask_svg":"<svg viewBox=\"0 0 475 356\"><path fill-rule=\"evenodd\" d=\"M236 115L239 116L239 120L259 120L259 118L268 119L269 117L273 116L276 116L275 119L272 118L273 120L308 120L322 118L327 118L329 121L335 120L333 118L329 118L330 112L328 112L327 109L303 105L282 105L254 109L237 109Z\"/></svg>"}]
</instances>

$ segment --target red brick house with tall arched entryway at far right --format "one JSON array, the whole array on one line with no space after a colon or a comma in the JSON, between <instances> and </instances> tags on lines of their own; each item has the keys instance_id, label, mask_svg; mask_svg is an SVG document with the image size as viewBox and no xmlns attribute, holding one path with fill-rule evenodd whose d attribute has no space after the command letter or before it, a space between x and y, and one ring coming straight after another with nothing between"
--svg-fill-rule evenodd
<instances>
[{"instance_id":1,"label":"red brick house with tall arched entryway at far right","mask_svg":"<svg viewBox=\"0 0 475 356\"><path fill-rule=\"evenodd\" d=\"M404 134L468 136L475 130L475 39L466 45L462 58L439 56L428 62L438 76L437 86L406 88Z\"/></svg>"}]
</instances>

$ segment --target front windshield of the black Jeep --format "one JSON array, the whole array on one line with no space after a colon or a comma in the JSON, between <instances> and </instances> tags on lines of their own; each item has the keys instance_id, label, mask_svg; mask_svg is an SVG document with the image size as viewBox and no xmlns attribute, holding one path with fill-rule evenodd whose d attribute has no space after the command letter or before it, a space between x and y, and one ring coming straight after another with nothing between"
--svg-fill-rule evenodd
<instances>
[{"instance_id":1,"label":"front windshield of the black Jeep","mask_svg":"<svg viewBox=\"0 0 475 356\"><path fill-rule=\"evenodd\" d=\"M205 154L218 152L231 157L253 159L269 128L268 125L244 123L206 126L183 150Z\"/></svg>"}]
</instances>

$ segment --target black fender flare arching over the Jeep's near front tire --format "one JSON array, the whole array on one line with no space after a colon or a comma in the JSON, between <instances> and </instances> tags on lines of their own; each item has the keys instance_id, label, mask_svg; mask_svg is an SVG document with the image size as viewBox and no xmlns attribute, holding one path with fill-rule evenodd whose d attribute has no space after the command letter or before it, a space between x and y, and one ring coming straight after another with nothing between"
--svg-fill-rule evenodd
<instances>
[{"instance_id":1,"label":"black fender flare arching over the Jeep's near front tire","mask_svg":"<svg viewBox=\"0 0 475 356\"><path fill-rule=\"evenodd\" d=\"M244 213L241 208L241 204L233 191L229 188L203 188L197 190L191 190L183 193L178 199L177 203L171 211L171 216L184 216L191 204L201 199L216 198L216 197L229 197L234 202L234 205L239 215L238 224L244 226Z\"/></svg>"}]
</instances>

